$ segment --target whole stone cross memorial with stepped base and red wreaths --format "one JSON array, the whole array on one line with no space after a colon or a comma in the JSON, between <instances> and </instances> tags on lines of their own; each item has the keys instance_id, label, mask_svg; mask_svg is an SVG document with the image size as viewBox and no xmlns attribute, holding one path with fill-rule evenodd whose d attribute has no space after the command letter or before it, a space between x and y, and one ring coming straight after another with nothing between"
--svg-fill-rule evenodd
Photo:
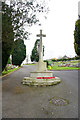
<instances>
[{"instance_id":1,"label":"whole stone cross memorial with stepped base and red wreaths","mask_svg":"<svg viewBox=\"0 0 80 120\"><path fill-rule=\"evenodd\" d=\"M23 84L29 86L50 86L61 82L60 78L53 76L53 71L47 71L46 62L43 62L42 37L46 35L37 35L40 37L39 62L36 64L36 71L30 73L30 77L24 77Z\"/></svg>"}]
</instances>

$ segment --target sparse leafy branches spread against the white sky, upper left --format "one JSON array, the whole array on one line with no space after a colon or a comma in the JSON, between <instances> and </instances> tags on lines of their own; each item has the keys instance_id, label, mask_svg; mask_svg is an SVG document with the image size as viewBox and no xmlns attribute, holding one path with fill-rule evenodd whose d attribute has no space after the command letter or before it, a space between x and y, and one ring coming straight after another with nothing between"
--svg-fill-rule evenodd
<instances>
[{"instance_id":1,"label":"sparse leafy branches spread against the white sky, upper left","mask_svg":"<svg viewBox=\"0 0 80 120\"><path fill-rule=\"evenodd\" d=\"M30 33L28 33L28 31L26 32L25 25L40 25L38 18L39 14L42 13L41 16L44 15L46 18L46 14L49 11L45 0L41 2L37 0L11 0L10 7L13 9L11 14L14 25L15 39L27 39Z\"/></svg>"}]
</instances>

